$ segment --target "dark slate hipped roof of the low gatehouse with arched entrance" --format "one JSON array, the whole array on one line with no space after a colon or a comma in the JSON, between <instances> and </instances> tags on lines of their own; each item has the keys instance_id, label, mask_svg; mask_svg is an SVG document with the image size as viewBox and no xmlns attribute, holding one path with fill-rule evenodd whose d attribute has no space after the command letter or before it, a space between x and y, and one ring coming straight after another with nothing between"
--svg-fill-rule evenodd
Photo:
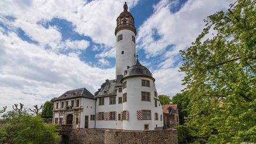
<instances>
[{"instance_id":1,"label":"dark slate hipped roof of the low gatehouse with arched entrance","mask_svg":"<svg viewBox=\"0 0 256 144\"><path fill-rule=\"evenodd\" d=\"M60 95L60 97L55 98L53 101L73 99L73 98L79 98L79 97L94 99L94 95L91 92L89 92L87 89L85 89L85 87L83 87L80 89L67 91L62 95Z\"/></svg>"}]
</instances>

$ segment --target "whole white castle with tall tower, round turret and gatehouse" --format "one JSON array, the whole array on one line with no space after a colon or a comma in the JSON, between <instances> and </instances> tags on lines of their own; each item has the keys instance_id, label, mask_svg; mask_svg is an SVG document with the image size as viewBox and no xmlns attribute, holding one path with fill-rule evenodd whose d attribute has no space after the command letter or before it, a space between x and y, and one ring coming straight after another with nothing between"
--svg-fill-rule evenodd
<instances>
[{"instance_id":1,"label":"whole white castle with tall tower, round turret and gatehouse","mask_svg":"<svg viewBox=\"0 0 256 144\"><path fill-rule=\"evenodd\" d=\"M116 20L116 79L107 79L94 95L81 88L55 98L53 123L73 125L73 129L140 131L163 127L155 78L136 58L137 31L127 10L125 3Z\"/></svg>"}]
</instances>

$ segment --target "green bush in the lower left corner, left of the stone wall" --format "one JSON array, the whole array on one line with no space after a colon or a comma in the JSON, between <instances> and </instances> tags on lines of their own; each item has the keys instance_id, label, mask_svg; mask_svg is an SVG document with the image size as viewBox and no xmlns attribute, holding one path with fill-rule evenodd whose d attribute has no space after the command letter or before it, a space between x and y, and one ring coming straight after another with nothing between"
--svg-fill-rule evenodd
<instances>
[{"instance_id":1,"label":"green bush in the lower left corner, left of the stone wall","mask_svg":"<svg viewBox=\"0 0 256 144\"><path fill-rule=\"evenodd\" d=\"M56 125L43 123L39 116L9 111L3 118L6 123L1 126L0 141L39 144L58 143L61 139Z\"/></svg>"}]
</instances>

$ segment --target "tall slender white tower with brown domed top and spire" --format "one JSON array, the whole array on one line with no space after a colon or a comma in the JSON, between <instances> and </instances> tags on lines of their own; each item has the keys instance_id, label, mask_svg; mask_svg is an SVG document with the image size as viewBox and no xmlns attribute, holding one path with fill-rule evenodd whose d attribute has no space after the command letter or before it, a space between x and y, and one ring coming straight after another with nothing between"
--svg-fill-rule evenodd
<instances>
[{"instance_id":1,"label":"tall slender white tower with brown domed top and spire","mask_svg":"<svg viewBox=\"0 0 256 144\"><path fill-rule=\"evenodd\" d=\"M125 2L124 11L117 18L116 35L116 76L124 75L124 70L135 63L135 36L134 18L127 11Z\"/></svg>"}]
</instances>

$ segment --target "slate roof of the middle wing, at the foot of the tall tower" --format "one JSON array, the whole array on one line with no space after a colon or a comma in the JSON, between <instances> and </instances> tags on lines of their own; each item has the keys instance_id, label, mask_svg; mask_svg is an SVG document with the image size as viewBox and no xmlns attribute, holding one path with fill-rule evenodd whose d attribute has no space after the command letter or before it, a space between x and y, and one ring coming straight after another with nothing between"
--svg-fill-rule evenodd
<instances>
[{"instance_id":1,"label":"slate roof of the middle wing, at the foot of the tall tower","mask_svg":"<svg viewBox=\"0 0 256 144\"><path fill-rule=\"evenodd\" d=\"M97 92L95 92L95 98L100 98L100 97L109 97L112 95L116 95L116 87L117 86L122 86L121 83L117 83L116 79L112 80L106 80L105 83L103 83L98 89Z\"/></svg>"}]
</instances>

